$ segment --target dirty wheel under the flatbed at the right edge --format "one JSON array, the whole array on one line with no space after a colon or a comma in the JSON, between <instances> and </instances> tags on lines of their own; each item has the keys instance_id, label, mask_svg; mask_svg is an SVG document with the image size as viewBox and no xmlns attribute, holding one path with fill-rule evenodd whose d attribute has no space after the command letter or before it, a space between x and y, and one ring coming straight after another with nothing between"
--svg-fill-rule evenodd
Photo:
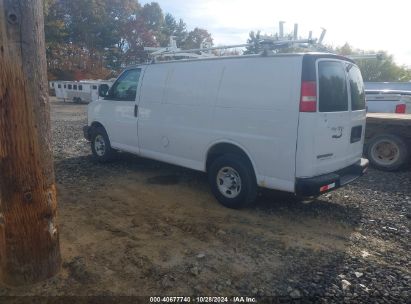
<instances>
[{"instance_id":1,"label":"dirty wheel under the flatbed at the right edge","mask_svg":"<svg viewBox=\"0 0 411 304\"><path fill-rule=\"evenodd\" d=\"M381 134L373 137L367 144L367 156L373 167L383 171L397 171L408 162L409 151L401 137Z\"/></svg>"}]
</instances>

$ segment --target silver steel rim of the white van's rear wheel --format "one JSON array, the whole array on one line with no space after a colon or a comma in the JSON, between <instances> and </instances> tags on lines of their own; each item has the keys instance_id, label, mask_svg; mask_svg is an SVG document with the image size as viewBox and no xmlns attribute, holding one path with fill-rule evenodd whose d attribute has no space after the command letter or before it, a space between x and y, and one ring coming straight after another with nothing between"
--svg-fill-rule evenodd
<instances>
[{"instance_id":1,"label":"silver steel rim of the white van's rear wheel","mask_svg":"<svg viewBox=\"0 0 411 304\"><path fill-rule=\"evenodd\" d=\"M227 198L235 198L241 192L241 177L234 168L221 168L217 173L216 182L220 193Z\"/></svg>"}]
</instances>

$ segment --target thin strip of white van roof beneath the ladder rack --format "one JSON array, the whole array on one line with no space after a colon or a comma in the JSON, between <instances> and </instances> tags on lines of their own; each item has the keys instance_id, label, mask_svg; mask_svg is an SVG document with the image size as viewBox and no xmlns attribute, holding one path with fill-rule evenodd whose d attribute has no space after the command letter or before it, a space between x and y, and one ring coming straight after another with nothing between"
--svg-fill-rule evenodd
<instances>
[{"instance_id":1,"label":"thin strip of white van roof beneath the ladder rack","mask_svg":"<svg viewBox=\"0 0 411 304\"><path fill-rule=\"evenodd\" d=\"M177 62L195 62L195 61L207 61L207 60L232 60L232 59L246 59L246 58L267 58L267 57L312 57L314 60L319 58L333 58L340 59L344 61L349 61L353 64L355 62L347 57L336 55L332 53L323 53L323 52L308 52L308 53L282 53L282 54L254 54L254 55L241 55L241 56L216 56L216 57L206 57L206 58L195 58L195 59L179 59L179 60L169 60L169 61L154 61L151 63L139 64L134 66L129 66L126 68L132 69L141 66L149 66L152 64L167 64L167 63L177 63Z\"/></svg>"}]
</instances>

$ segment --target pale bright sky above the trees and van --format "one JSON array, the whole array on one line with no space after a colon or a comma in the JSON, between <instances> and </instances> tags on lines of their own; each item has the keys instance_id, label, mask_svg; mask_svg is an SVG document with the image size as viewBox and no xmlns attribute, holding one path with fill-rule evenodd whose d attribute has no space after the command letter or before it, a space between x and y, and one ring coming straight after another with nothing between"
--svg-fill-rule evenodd
<instances>
[{"instance_id":1,"label":"pale bright sky above the trees and van","mask_svg":"<svg viewBox=\"0 0 411 304\"><path fill-rule=\"evenodd\" d=\"M139 1L142 4L152 2ZM411 1L391 0L157 0L166 13L182 18L191 30L211 32L215 45L245 43L251 30L285 32L299 24L299 35L327 29L325 44L345 42L366 50L386 50L399 64L411 66Z\"/></svg>"}]
</instances>

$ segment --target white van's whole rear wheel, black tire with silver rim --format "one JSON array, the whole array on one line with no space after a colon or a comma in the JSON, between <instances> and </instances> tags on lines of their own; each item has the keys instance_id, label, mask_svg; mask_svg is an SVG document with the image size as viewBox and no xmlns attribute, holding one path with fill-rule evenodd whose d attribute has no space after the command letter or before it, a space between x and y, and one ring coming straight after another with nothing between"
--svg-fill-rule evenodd
<instances>
[{"instance_id":1,"label":"white van's whole rear wheel, black tire with silver rim","mask_svg":"<svg viewBox=\"0 0 411 304\"><path fill-rule=\"evenodd\" d=\"M208 180L214 196L225 207L240 209L252 205L257 198L254 170L244 157L220 156L209 167Z\"/></svg>"}]
</instances>

